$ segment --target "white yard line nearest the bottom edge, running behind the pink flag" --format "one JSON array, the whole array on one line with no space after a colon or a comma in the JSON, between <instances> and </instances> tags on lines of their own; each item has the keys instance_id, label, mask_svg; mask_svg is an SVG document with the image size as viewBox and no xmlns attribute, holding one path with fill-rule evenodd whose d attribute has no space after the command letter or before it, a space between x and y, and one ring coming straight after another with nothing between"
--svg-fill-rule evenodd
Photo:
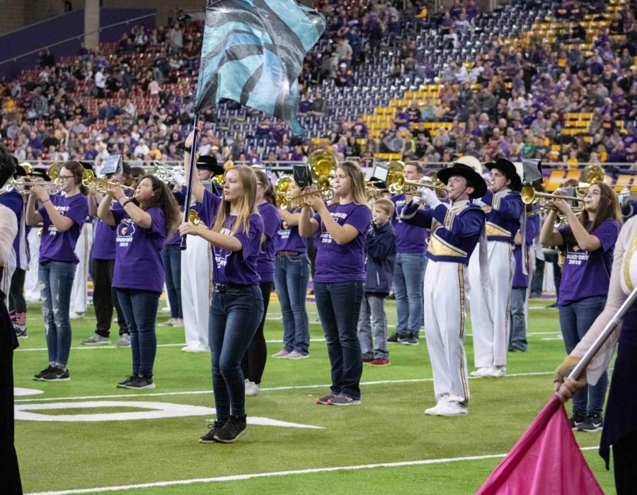
<instances>
[{"instance_id":1,"label":"white yard line nearest the bottom edge, running behind the pink flag","mask_svg":"<svg viewBox=\"0 0 637 495\"><path fill-rule=\"evenodd\" d=\"M583 447L581 450L593 450L596 448L599 448L599 447ZM94 493L102 493L105 491L122 491L122 490L139 489L139 488L154 488L154 487L171 487L175 485L195 484L195 483L234 482L234 481L241 481L243 479L270 478L275 476L290 476L295 474L313 474L316 472L356 471L356 470L365 470L365 469L375 469L378 467L405 467L405 466L422 466L422 465L431 465L431 464L447 464L449 462L462 462L462 461L468 461L468 460L471 461L471 460L483 460L483 459L499 459L499 458L504 458L505 456L506 454L471 455L469 457L462 457L462 458L406 460L401 462L381 462L379 464L362 464L362 465L355 465L355 466L316 467L314 469L306 469L306 470L259 472L259 473L253 473L253 474L233 474L230 476L219 476L215 478L177 479L177 480L166 481L166 482L129 484L129 485L122 485L119 487L98 487L98 488L61 490L61 491L40 491L38 493L31 493L27 495L94 494Z\"/></svg>"}]
</instances>

